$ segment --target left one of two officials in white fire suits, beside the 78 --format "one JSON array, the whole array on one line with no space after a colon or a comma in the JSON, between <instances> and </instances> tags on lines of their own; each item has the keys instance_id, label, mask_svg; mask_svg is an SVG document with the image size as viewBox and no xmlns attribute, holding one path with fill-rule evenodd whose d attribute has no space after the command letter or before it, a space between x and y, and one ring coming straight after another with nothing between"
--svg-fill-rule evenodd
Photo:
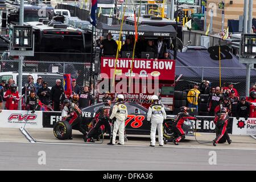
<instances>
[{"instance_id":1,"label":"left one of two officials in white fire suits, beside the 78","mask_svg":"<svg viewBox=\"0 0 256 182\"><path fill-rule=\"evenodd\" d=\"M118 102L114 105L110 119L116 118L113 129L112 143L115 144L115 137L117 137L117 131L119 134L119 143L125 144L125 120L127 118L127 107L122 102Z\"/></svg>"}]
</instances>

